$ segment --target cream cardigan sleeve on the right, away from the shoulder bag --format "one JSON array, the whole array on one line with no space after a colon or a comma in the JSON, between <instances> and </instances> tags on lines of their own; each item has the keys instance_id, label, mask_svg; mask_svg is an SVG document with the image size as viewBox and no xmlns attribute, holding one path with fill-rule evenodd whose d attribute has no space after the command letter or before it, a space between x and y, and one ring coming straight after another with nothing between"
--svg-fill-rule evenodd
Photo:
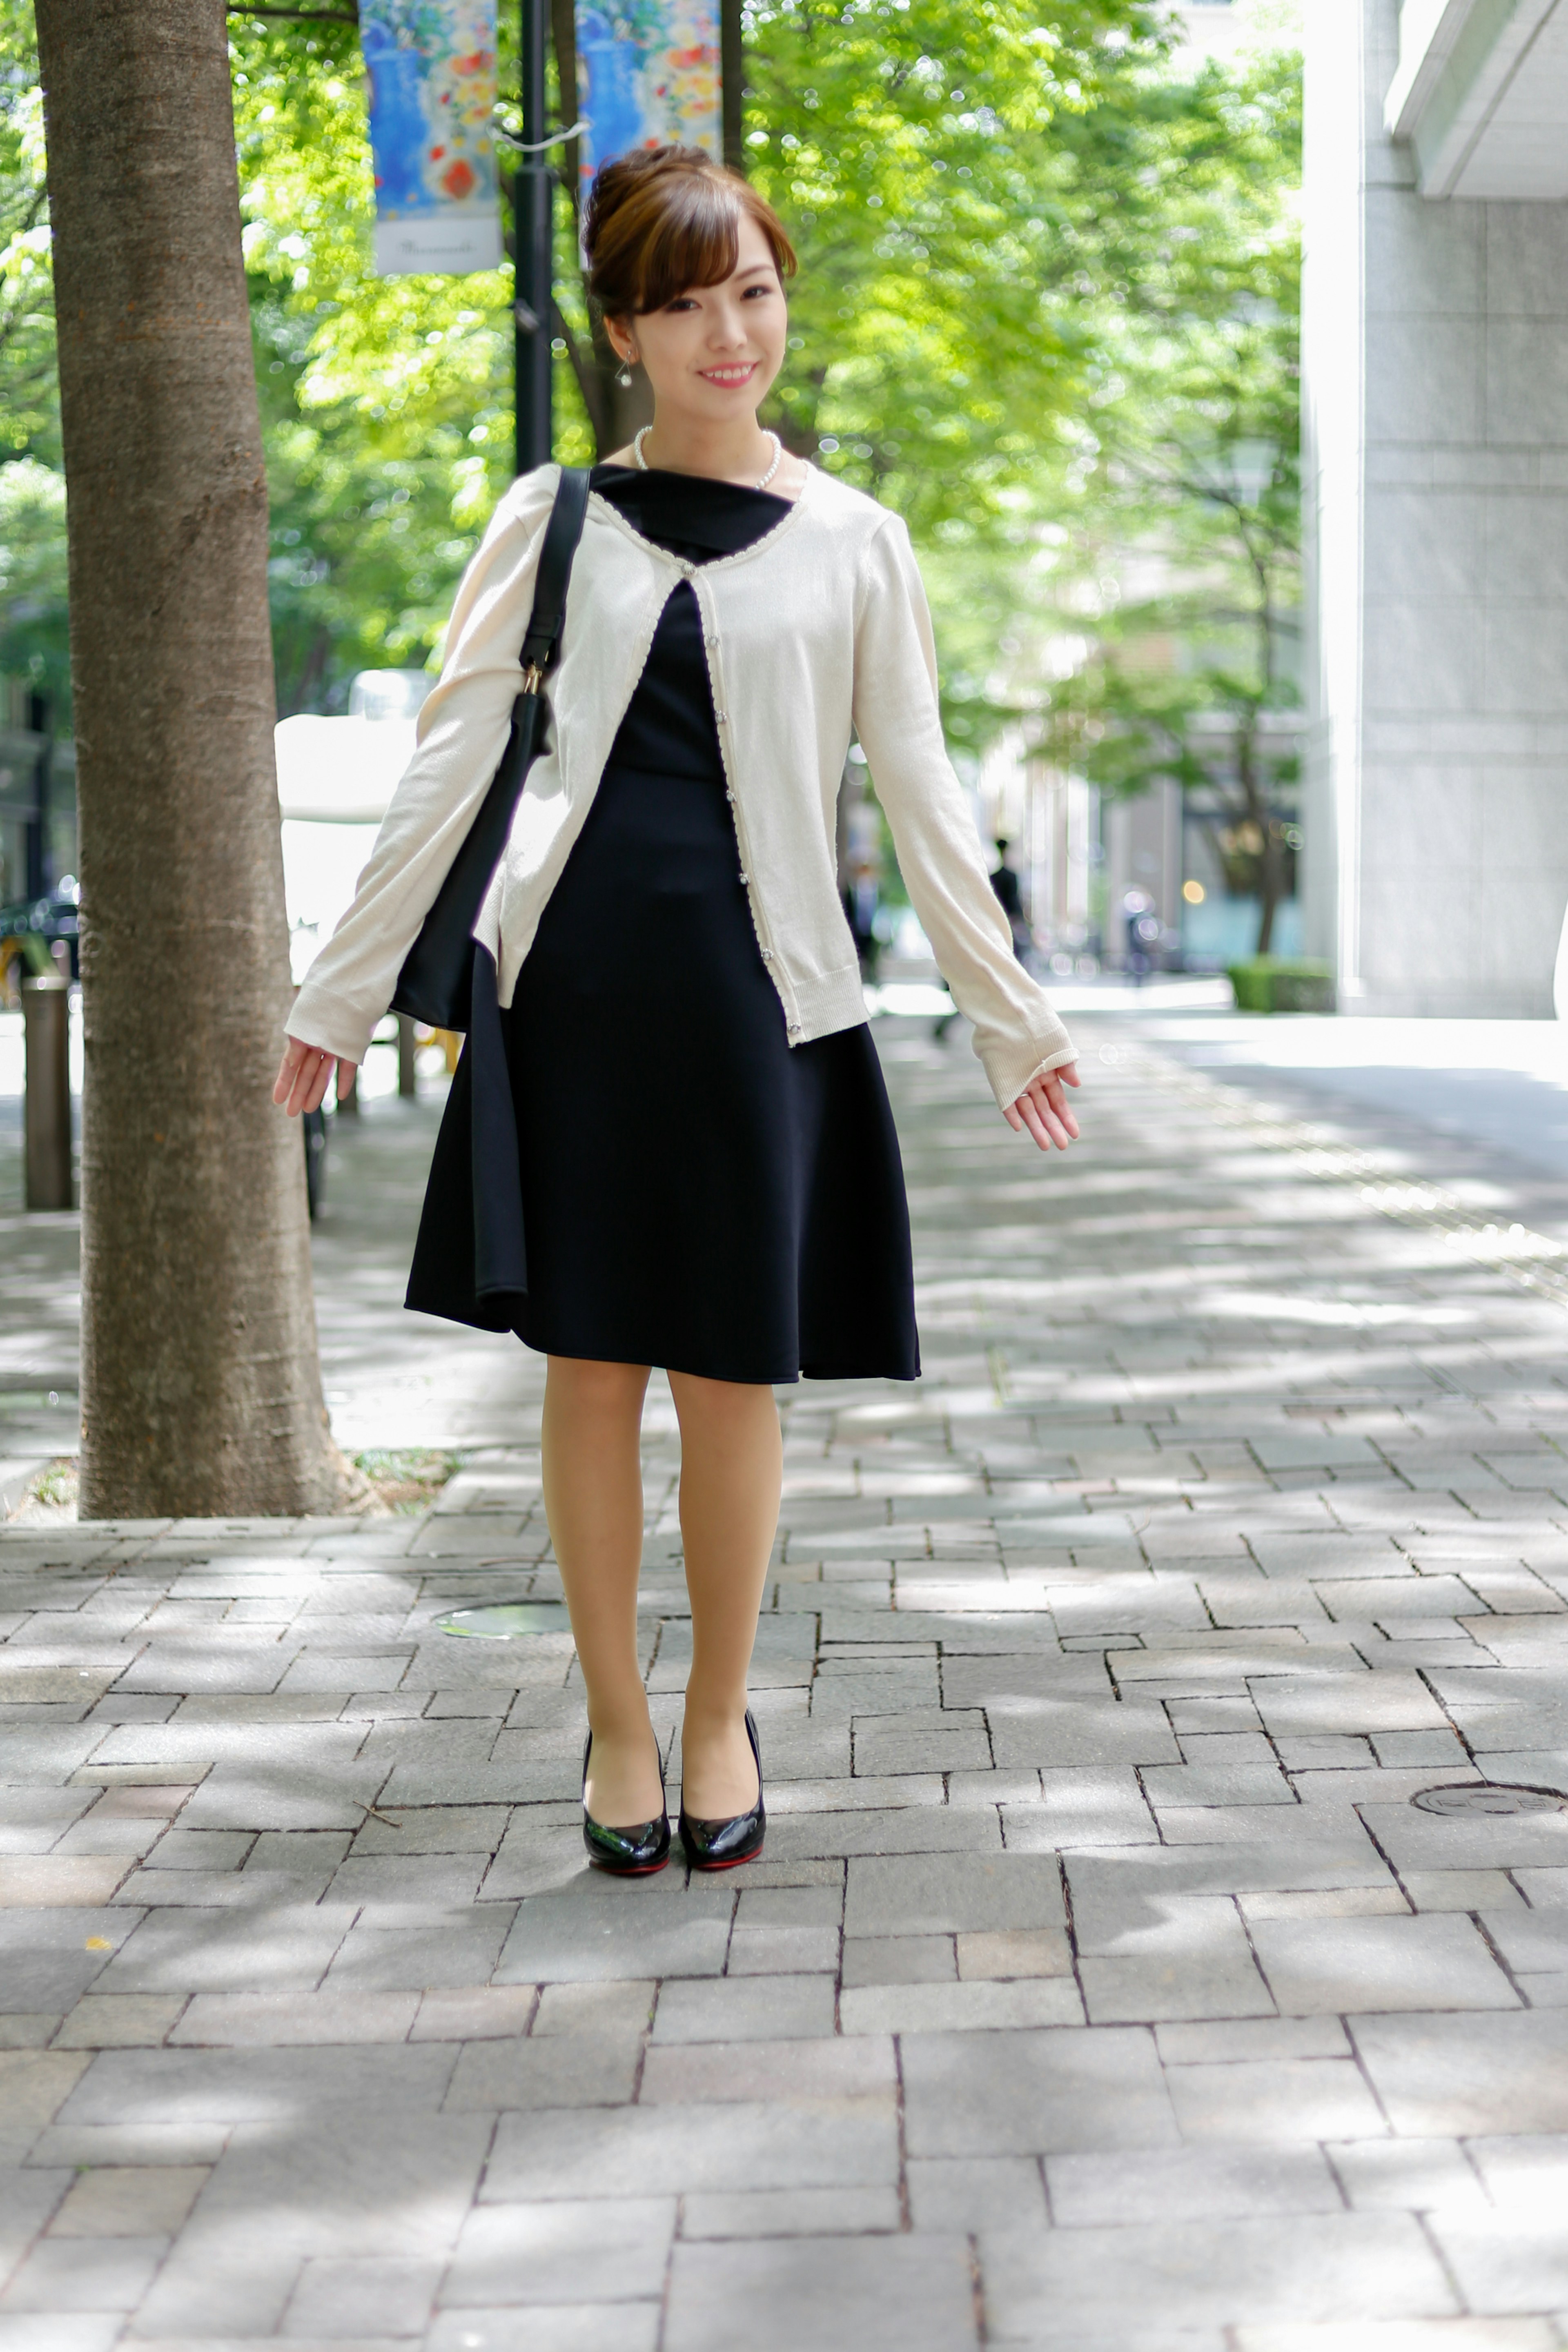
<instances>
[{"instance_id":1,"label":"cream cardigan sleeve on the right, away from the shoulder bag","mask_svg":"<svg viewBox=\"0 0 1568 2352\"><path fill-rule=\"evenodd\" d=\"M1077 1047L1013 955L943 741L931 609L898 515L886 517L860 567L853 722L914 913L1006 1108L1030 1080L1077 1061Z\"/></svg>"}]
</instances>

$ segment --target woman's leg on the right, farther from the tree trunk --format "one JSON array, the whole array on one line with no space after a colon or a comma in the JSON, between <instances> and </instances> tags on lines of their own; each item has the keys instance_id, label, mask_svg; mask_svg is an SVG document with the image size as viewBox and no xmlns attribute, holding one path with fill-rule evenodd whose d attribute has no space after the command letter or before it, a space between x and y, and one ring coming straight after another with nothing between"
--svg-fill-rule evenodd
<instances>
[{"instance_id":1,"label":"woman's leg on the right, farther from the tree trunk","mask_svg":"<svg viewBox=\"0 0 1568 2352\"><path fill-rule=\"evenodd\" d=\"M691 1595L682 1802L724 1820L757 1802L745 1672L778 1529L783 1439L771 1388L672 1371L682 1432L679 1519Z\"/></svg>"}]
</instances>

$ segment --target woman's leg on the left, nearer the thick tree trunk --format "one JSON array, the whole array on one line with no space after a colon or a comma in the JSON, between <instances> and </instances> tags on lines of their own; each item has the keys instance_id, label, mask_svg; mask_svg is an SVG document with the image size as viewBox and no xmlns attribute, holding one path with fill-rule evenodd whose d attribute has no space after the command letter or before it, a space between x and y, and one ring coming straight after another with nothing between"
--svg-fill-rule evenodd
<instances>
[{"instance_id":1,"label":"woman's leg on the left, nearer the thick tree trunk","mask_svg":"<svg viewBox=\"0 0 1568 2352\"><path fill-rule=\"evenodd\" d=\"M571 1355L552 1355L545 1378L545 1515L592 1729L585 1804L611 1828L658 1820L663 1804L658 1743L637 1668L646 1385L646 1364L592 1364Z\"/></svg>"}]
</instances>

